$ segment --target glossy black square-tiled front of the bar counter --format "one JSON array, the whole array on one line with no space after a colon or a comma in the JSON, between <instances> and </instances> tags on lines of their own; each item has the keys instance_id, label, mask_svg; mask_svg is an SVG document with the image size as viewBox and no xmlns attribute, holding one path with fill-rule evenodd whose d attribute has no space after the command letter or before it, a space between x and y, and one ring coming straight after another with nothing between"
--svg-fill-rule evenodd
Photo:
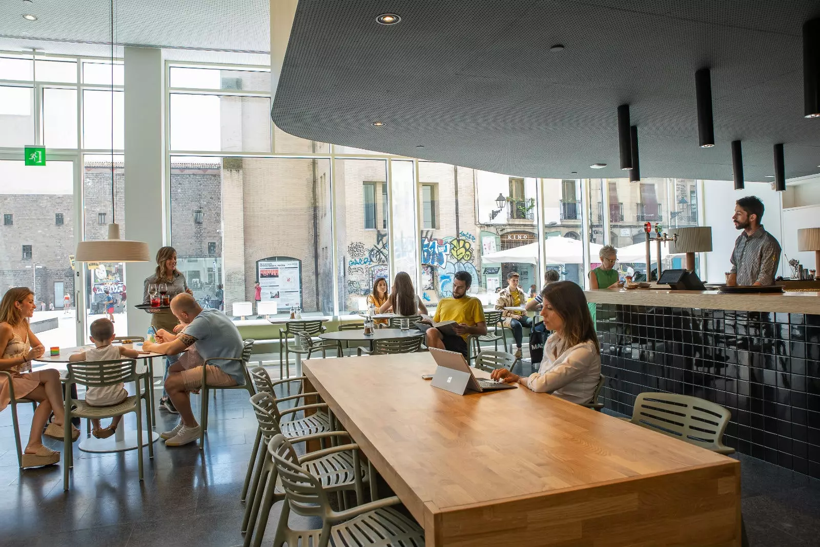
<instances>
[{"instance_id":1,"label":"glossy black square-tiled front of the bar counter","mask_svg":"<svg viewBox=\"0 0 820 547\"><path fill-rule=\"evenodd\" d=\"M731 412L724 442L820 478L820 316L598 304L604 404L645 391Z\"/></svg>"}]
</instances>

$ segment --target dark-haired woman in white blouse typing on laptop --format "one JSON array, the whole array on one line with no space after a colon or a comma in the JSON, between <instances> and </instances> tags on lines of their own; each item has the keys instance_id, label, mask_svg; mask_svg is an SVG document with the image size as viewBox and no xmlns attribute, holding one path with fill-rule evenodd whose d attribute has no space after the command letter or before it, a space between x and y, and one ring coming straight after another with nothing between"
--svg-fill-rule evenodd
<instances>
[{"instance_id":1,"label":"dark-haired woman in white blouse typing on laptop","mask_svg":"<svg viewBox=\"0 0 820 547\"><path fill-rule=\"evenodd\" d=\"M584 291L572 281L558 281L544 287L541 297L541 317L553 334L544 344L539 371L517 376L499 368L491 376L493 380L517 382L571 403L589 403L601 373L601 351Z\"/></svg>"}]
</instances>

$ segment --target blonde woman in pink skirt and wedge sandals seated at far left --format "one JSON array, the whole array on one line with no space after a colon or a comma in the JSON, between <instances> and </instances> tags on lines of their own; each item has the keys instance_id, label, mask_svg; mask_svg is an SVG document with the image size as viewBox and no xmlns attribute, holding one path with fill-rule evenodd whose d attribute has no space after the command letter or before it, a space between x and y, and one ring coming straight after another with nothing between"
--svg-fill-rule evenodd
<instances>
[{"instance_id":1,"label":"blonde woman in pink skirt and wedge sandals seated at far left","mask_svg":"<svg viewBox=\"0 0 820 547\"><path fill-rule=\"evenodd\" d=\"M45 351L29 326L36 307L34 293L27 287L8 289L0 301L0 371L7 373L0 374L0 411L11 402L12 389L15 399L38 403L31 419L29 442L23 450L23 467L60 461L59 452L43 446L41 435L62 440L65 424L60 373L52 369L31 372L31 362L43 357ZM54 420L46 427L52 412ZM80 430L71 426L71 438L78 437Z\"/></svg>"}]
</instances>

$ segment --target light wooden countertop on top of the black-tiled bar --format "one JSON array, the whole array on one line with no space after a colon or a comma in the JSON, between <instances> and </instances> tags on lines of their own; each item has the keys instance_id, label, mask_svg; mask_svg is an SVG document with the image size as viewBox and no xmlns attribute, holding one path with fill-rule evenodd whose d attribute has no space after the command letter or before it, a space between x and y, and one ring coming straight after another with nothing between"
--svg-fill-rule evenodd
<instances>
[{"instance_id":1,"label":"light wooden countertop on top of the black-tiled bar","mask_svg":"<svg viewBox=\"0 0 820 547\"><path fill-rule=\"evenodd\" d=\"M717 290L670 289L594 289L584 292L588 302L602 304L820 315L820 293L816 292L720 294Z\"/></svg>"}]
</instances>

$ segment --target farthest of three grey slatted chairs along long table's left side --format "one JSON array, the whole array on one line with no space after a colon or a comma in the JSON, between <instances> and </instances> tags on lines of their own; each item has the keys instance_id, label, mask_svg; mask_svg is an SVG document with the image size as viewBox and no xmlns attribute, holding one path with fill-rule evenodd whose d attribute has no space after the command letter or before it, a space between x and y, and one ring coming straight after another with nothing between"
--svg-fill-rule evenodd
<instances>
[{"instance_id":1,"label":"farthest of three grey slatted chairs along long table's left side","mask_svg":"<svg viewBox=\"0 0 820 547\"><path fill-rule=\"evenodd\" d=\"M306 376L287 378L285 380L280 381L271 381L271 376L269 376L267 371L262 367L255 367L251 371L250 376L251 378L253 378L253 384L256 385L257 391L259 393L266 393L270 395L271 399L274 401L274 406L271 409L271 412L274 413L274 416L276 417L276 423L279 426L280 431L284 433L285 436L294 439L296 437L307 437L308 435L317 435L321 433L326 433L328 431L333 431L333 418L330 416L330 413L327 412L327 405L325 403L304 404L303 406L297 406L286 409L293 412L286 412L284 414L280 412L280 403L283 403L285 401L295 401L296 403L298 403L298 399L303 399L305 397L310 396L319 396L319 394L315 391L311 393L302 393L303 381L307 380ZM274 390L274 387L276 385L290 385L297 382L297 394L289 395L287 397L276 397L276 391ZM311 408L315 408L316 413L313 413L310 416L306 416L303 418L291 420L289 422L282 420L283 415L286 416L291 413L296 413L298 411L308 410ZM257 429L256 439L253 440L253 449L251 449L251 458L248 462L248 472L245 473L245 482L242 486L242 493L239 495L239 499L241 499L242 501L245 501L246 496L248 495L248 488L251 483L253 468L254 465L256 465L257 458L260 458L259 453L261 444L262 430ZM264 450L264 447L262 447L262 450Z\"/></svg>"}]
</instances>

